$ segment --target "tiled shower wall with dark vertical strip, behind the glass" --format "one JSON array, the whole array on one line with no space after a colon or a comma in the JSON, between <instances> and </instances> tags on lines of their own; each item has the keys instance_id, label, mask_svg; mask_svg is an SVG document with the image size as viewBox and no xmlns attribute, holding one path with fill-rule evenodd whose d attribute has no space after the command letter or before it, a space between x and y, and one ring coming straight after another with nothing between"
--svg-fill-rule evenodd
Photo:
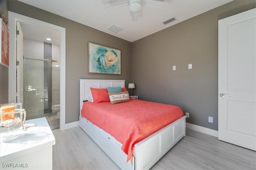
<instances>
[{"instance_id":1,"label":"tiled shower wall with dark vertical strip, behind the glass","mask_svg":"<svg viewBox=\"0 0 256 170\"><path fill-rule=\"evenodd\" d=\"M60 61L59 51L59 45L24 38L25 57ZM27 116L50 113L52 105L60 104L60 63L24 59L24 90Z\"/></svg>"}]
</instances>

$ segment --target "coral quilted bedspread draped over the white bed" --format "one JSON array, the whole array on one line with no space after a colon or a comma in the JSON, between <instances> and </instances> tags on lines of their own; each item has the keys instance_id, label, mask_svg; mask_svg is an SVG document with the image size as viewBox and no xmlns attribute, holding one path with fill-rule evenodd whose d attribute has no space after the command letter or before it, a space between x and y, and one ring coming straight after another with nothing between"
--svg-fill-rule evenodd
<instances>
[{"instance_id":1,"label":"coral quilted bedspread draped over the white bed","mask_svg":"<svg viewBox=\"0 0 256 170\"><path fill-rule=\"evenodd\" d=\"M183 116L178 106L130 99L130 102L84 102L81 115L117 141L132 157L134 145Z\"/></svg>"}]
</instances>

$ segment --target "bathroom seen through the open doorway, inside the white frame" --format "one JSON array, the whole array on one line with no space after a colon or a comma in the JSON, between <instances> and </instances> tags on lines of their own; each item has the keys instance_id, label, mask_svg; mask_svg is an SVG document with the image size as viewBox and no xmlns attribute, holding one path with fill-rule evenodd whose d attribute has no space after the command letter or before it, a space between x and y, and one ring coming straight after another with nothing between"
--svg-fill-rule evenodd
<instances>
[{"instance_id":1,"label":"bathroom seen through the open doorway, inside the white frame","mask_svg":"<svg viewBox=\"0 0 256 170\"><path fill-rule=\"evenodd\" d=\"M19 21L17 30L17 102L26 110L26 120L46 117L51 129L58 129L60 32Z\"/></svg>"}]
</instances>

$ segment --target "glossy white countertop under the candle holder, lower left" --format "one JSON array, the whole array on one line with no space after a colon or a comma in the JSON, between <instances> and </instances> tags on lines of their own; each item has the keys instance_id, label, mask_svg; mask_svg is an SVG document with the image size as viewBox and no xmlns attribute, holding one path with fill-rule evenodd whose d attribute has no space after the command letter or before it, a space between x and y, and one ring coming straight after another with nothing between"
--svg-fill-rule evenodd
<instances>
[{"instance_id":1,"label":"glossy white countertop under the candle holder, lower left","mask_svg":"<svg viewBox=\"0 0 256 170\"><path fill-rule=\"evenodd\" d=\"M18 134L19 136L10 141L3 141L5 133L0 133L1 162L22 156L32 150L55 145L54 135L45 117L26 120L26 123L34 123L35 126L27 127L25 131L13 131L12 135Z\"/></svg>"}]
</instances>

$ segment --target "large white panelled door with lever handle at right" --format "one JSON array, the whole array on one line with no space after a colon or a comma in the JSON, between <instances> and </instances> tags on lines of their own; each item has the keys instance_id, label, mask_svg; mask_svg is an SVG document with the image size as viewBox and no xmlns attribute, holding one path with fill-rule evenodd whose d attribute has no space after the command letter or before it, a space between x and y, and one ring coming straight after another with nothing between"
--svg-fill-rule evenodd
<instances>
[{"instance_id":1,"label":"large white panelled door with lever handle at right","mask_svg":"<svg viewBox=\"0 0 256 170\"><path fill-rule=\"evenodd\" d=\"M256 8L219 20L218 139L256 150Z\"/></svg>"}]
</instances>

